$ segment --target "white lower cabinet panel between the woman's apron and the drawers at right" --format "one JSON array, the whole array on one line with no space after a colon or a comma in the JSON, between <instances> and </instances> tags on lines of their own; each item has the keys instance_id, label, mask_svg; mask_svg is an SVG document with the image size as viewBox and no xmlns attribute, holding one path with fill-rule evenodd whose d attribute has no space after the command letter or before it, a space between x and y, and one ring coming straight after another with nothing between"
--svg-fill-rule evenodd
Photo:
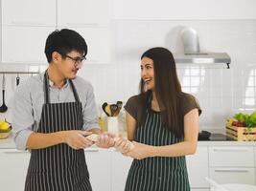
<instances>
[{"instance_id":1,"label":"white lower cabinet panel between the woman's apron and the drawers at right","mask_svg":"<svg viewBox=\"0 0 256 191\"><path fill-rule=\"evenodd\" d=\"M190 186L201 189L209 188L205 180L205 177L209 176L208 147L198 146L196 154L187 156L186 161Z\"/></svg>"}]
</instances>

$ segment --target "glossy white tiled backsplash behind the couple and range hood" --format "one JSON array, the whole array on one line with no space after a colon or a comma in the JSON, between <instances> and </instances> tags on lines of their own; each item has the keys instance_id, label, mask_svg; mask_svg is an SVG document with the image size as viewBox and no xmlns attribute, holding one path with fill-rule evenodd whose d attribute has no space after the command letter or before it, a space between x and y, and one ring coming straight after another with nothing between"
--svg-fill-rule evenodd
<instances>
[{"instance_id":1,"label":"glossy white tiled backsplash behind the couple and range hood","mask_svg":"<svg viewBox=\"0 0 256 191\"><path fill-rule=\"evenodd\" d=\"M201 52L223 52L231 56L229 70L224 64L177 65L183 91L197 96L202 108L200 128L223 129L227 117L241 110L248 113L255 110L256 20L112 20L111 63L84 63L80 72L93 84L99 110L105 101L126 101L138 93L140 55L147 49L163 46L172 52L183 52L179 37L183 27L198 32ZM0 118L11 121L15 77L16 74L6 75L6 103L10 110L0 114ZM26 77L20 75L21 81ZM2 104L2 96L0 101Z\"/></svg>"}]
</instances>

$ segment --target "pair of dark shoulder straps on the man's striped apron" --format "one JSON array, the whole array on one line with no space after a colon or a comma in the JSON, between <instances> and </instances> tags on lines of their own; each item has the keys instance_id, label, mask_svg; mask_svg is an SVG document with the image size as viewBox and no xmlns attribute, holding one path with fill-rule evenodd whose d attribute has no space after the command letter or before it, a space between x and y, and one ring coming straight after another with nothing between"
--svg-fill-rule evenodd
<instances>
[{"instance_id":1,"label":"pair of dark shoulder straps on the man's striped apron","mask_svg":"<svg viewBox=\"0 0 256 191\"><path fill-rule=\"evenodd\" d=\"M44 74L44 85L43 85L43 91L44 91L44 102L46 104L50 103L50 94L49 94L49 76L47 74L47 70L45 71L45 74ZM78 92L77 92L77 89L75 87L75 85L73 84L72 80L71 79L68 79L70 85L71 85L71 88L72 88L72 92L73 92L73 95L75 97L75 100L76 102L80 102L80 97L78 95Z\"/></svg>"}]
</instances>

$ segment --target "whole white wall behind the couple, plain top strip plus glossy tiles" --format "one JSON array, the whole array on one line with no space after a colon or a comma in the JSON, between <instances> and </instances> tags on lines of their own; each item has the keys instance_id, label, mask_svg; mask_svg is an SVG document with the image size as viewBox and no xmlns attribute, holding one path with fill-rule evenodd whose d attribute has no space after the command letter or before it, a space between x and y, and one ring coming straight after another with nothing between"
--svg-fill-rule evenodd
<instances>
[{"instance_id":1,"label":"whole white wall behind the couple, plain top strip plus glossy tiles","mask_svg":"<svg viewBox=\"0 0 256 191\"><path fill-rule=\"evenodd\" d=\"M85 63L80 73L92 82L99 104L127 100L136 94L140 55L154 46L182 51L179 32L189 26L197 30L202 51L226 52L232 60L230 70L224 65L177 66L183 90L197 96L202 107L201 129L223 129L227 117L240 110L249 113L255 110L256 1L110 2L111 62ZM190 5L183 8L185 2ZM12 100L15 75L10 77L8 102ZM8 117L8 114L0 117Z\"/></svg>"}]
</instances>

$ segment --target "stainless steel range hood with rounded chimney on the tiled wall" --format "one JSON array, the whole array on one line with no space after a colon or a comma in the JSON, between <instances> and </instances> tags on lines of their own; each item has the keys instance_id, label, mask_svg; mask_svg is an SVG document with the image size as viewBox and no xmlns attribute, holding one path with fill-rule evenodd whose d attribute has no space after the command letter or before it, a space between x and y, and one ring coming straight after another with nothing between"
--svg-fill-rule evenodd
<instances>
[{"instance_id":1,"label":"stainless steel range hood with rounded chimney on the tiled wall","mask_svg":"<svg viewBox=\"0 0 256 191\"><path fill-rule=\"evenodd\" d=\"M177 64L226 64L229 69L231 58L227 53L201 53L198 33L192 28L181 31L184 53L174 53Z\"/></svg>"}]
</instances>

